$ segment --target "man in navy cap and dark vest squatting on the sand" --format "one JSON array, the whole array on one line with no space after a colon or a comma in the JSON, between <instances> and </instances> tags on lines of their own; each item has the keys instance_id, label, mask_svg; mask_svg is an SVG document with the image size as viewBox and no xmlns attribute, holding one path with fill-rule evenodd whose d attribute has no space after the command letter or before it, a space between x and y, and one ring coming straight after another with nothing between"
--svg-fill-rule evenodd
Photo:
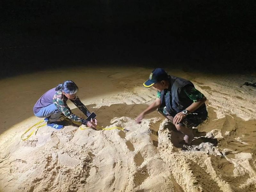
<instances>
[{"instance_id":1,"label":"man in navy cap and dark vest squatting on the sand","mask_svg":"<svg viewBox=\"0 0 256 192\"><path fill-rule=\"evenodd\" d=\"M192 127L207 119L204 95L190 81L170 76L163 68L153 70L143 85L157 89L157 98L135 121L140 123L145 115L157 109L178 131L185 134L185 144L190 145L194 137Z\"/></svg>"}]
</instances>

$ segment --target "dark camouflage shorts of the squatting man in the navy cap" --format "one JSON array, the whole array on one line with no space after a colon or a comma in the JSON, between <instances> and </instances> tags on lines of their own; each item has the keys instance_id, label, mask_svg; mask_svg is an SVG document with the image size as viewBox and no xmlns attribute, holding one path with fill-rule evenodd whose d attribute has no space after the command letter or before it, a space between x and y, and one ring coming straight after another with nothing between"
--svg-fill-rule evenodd
<instances>
[{"instance_id":1,"label":"dark camouflage shorts of the squatting man in the navy cap","mask_svg":"<svg viewBox=\"0 0 256 192\"><path fill-rule=\"evenodd\" d=\"M173 118L177 114L176 112L170 114L166 110L166 107L157 108L157 111L159 114L163 115L168 120L170 120L173 124ZM199 124L202 124L207 119L207 116L208 116L208 112L206 110L204 112L190 113L179 123L179 125L186 126L188 128L197 127Z\"/></svg>"}]
</instances>

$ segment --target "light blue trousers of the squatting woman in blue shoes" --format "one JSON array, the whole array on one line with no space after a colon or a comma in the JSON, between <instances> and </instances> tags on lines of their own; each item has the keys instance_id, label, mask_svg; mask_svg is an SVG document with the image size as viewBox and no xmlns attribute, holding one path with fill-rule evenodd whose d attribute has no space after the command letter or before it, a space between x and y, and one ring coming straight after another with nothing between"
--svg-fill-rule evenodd
<instances>
[{"instance_id":1,"label":"light blue trousers of the squatting woman in blue shoes","mask_svg":"<svg viewBox=\"0 0 256 192\"><path fill-rule=\"evenodd\" d=\"M40 108L40 110L35 114L35 116L40 118L49 117L50 122L55 122L60 118L61 111L55 106L54 103L46 107Z\"/></svg>"}]
</instances>

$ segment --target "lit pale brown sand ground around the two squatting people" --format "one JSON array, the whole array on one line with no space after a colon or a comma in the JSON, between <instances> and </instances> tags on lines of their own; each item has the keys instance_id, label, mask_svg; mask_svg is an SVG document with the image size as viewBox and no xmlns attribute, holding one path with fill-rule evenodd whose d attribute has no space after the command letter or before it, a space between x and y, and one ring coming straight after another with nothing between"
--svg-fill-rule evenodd
<instances>
[{"instance_id":1,"label":"lit pale brown sand ground around the two squatting people","mask_svg":"<svg viewBox=\"0 0 256 192\"><path fill-rule=\"evenodd\" d=\"M178 143L183 135L157 112L134 122L156 98L142 86L151 70L70 68L1 80L0 191L256 191L256 88L243 85L255 83L255 74L166 69L208 99L209 118L193 129L186 149ZM125 130L81 130L65 121L62 130L44 126L21 140L42 120L32 112L36 100L67 79L100 126Z\"/></svg>"}]
</instances>

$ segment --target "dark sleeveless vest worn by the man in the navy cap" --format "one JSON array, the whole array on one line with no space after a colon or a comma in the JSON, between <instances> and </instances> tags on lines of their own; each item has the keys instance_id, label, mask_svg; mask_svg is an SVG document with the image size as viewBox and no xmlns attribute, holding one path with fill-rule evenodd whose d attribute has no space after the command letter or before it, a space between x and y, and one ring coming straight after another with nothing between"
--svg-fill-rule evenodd
<instances>
[{"instance_id":1,"label":"dark sleeveless vest worn by the man in the navy cap","mask_svg":"<svg viewBox=\"0 0 256 192\"><path fill-rule=\"evenodd\" d=\"M186 79L170 75L168 76L168 81L170 83L169 88L161 91L161 108L166 106L166 109L170 114L179 113L193 103L188 97L180 97L182 88L186 85L194 87L194 84ZM196 111L202 111L202 109L206 110L205 104L200 106Z\"/></svg>"}]
</instances>

